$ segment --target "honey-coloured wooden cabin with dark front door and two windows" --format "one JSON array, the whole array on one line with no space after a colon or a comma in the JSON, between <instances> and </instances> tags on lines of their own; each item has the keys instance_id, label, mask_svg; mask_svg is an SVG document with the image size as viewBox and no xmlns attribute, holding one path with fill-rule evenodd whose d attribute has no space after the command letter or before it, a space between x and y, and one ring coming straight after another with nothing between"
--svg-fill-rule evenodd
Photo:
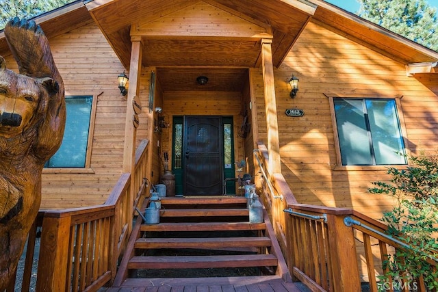
<instances>
[{"instance_id":1,"label":"honey-coloured wooden cabin with dark front door and two windows","mask_svg":"<svg viewBox=\"0 0 438 292\"><path fill-rule=\"evenodd\" d=\"M321 277L298 267L300 245L289 232L300 224L288 225L283 209L378 220L393 202L368 187L388 178L389 165L408 165L395 152L437 150L438 53L322 0L75 1L35 21L67 101L62 148L42 174L42 212L101 205L125 174L123 194L143 178L142 198L165 170L175 175L175 198L241 197L237 178L249 174L292 278L324 290ZM0 54L16 70L0 37ZM276 195L267 198L270 184ZM330 239L339 254L352 244L342 230ZM342 262L346 252L337 269L359 269L372 282L372 269L361 268L370 267L368 248L350 253L359 254L356 268ZM345 273L334 278L334 291L352 291Z\"/></svg>"}]
</instances>

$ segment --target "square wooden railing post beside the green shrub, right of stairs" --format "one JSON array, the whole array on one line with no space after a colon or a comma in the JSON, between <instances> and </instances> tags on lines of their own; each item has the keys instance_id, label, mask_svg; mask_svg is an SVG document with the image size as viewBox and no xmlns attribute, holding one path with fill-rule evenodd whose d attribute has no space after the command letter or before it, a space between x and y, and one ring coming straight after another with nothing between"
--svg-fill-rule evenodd
<instances>
[{"instance_id":1,"label":"square wooden railing post beside the green shrub, right of stairs","mask_svg":"<svg viewBox=\"0 0 438 292\"><path fill-rule=\"evenodd\" d=\"M329 256L333 291L361 291L353 228L344 224L345 215L327 214Z\"/></svg>"}]
</instances>

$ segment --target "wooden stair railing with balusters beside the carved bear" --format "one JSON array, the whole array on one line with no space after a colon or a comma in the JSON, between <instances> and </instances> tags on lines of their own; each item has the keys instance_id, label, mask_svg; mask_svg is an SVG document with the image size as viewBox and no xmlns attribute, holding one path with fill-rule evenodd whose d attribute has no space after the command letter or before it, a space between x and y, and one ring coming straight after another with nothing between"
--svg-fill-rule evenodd
<instances>
[{"instance_id":1,"label":"wooden stair railing with balusters beside the carved bear","mask_svg":"<svg viewBox=\"0 0 438 292\"><path fill-rule=\"evenodd\" d=\"M97 291L114 280L134 207L146 194L147 146L144 140L136 151L136 194L129 194L131 174L124 173L104 204L38 214L29 233L23 276L17 278L22 282L21 291L29 291L30 283L35 282L31 265L37 230L41 231L41 239L36 291ZM131 198L134 206L129 203ZM14 291L14 283L8 291Z\"/></svg>"}]
</instances>

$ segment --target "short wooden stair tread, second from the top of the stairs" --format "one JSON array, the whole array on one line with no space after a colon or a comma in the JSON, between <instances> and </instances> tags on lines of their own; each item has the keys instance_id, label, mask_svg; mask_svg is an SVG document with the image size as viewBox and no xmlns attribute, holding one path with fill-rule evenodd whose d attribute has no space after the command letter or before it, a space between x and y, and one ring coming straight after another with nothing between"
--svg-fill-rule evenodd
<instances>
[{"instance_id":1,"label":"short wooden stair tread, second from the top of the stairs","mask_svg":"<svg viewBox=\"0 0 438 292\"><path fill-rule=\"evenodd\" d=\"M248 216L248 209L165 209L160 217Z\"/></svg>"}]
</instances>

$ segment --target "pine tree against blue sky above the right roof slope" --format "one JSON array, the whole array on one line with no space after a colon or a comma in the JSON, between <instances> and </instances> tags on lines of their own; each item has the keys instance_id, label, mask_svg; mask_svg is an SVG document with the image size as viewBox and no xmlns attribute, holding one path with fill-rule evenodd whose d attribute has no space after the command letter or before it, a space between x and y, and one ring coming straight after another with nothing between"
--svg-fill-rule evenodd
<instances>
[{"instance_id":1,"label":"pine tree against blue sky above the right roof slope","mask_svg":"<svg viewBox=\"0 0 438 292\"><path fill-rule=\"evenodd\" d=\"M438 51L437 8L426 0L358 0L359 16Z\"/></svg>"}]
</instances>

